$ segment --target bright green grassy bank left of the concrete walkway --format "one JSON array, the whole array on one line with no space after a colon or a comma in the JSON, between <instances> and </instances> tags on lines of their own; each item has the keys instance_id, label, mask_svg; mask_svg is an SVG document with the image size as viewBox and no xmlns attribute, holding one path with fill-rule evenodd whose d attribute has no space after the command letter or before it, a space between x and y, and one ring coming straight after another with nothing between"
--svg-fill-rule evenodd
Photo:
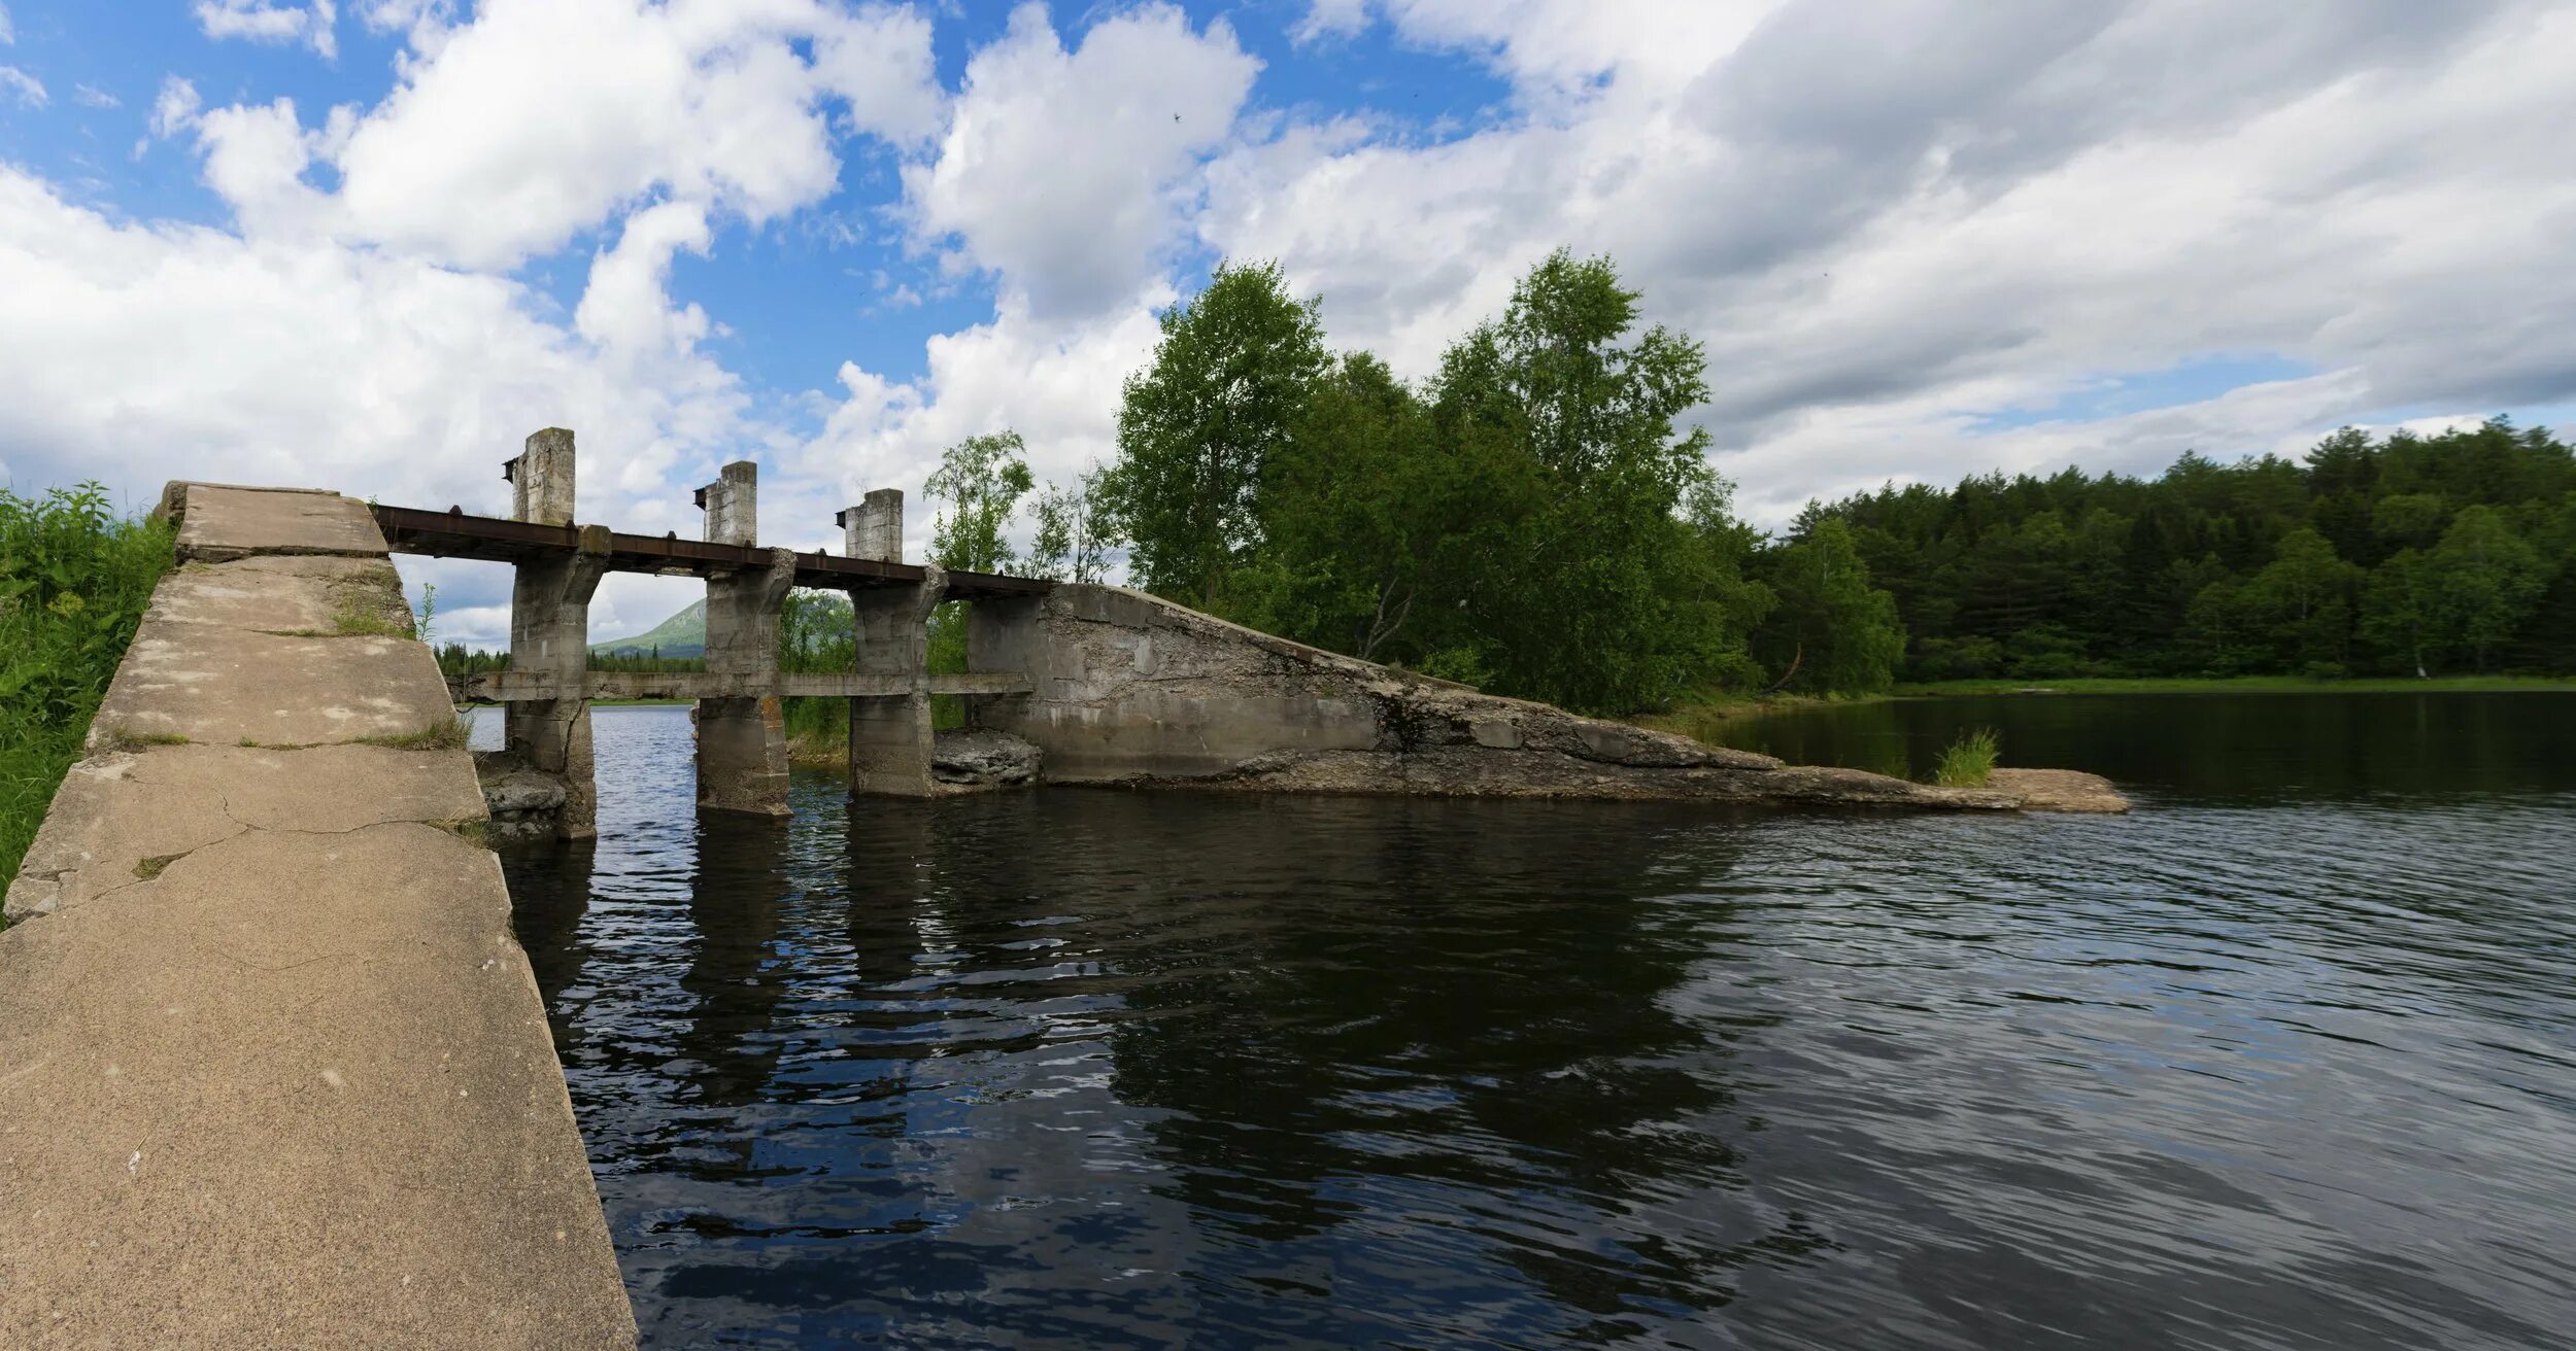
<instances>
[{"instance_id":1,"label":"bright green grassy bank left of the concrete walkway","mask_svg":"<svg viewBox=\"0 0 2576 1351\"><path fill-rule=\"evenodd\" d=\"M170 528L98 484L0 489L0 883L18 875L98 700L170 569Z\"/></svg>"}]
</instances>

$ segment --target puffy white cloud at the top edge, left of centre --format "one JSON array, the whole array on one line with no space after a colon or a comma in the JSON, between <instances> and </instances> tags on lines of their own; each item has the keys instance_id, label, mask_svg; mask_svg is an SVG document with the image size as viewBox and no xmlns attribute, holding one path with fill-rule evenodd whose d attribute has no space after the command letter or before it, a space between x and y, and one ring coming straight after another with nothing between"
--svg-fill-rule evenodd
<instances>
[{"instance_id":1,"label":"puffy white cloud at the top edge, left of centre","mask_svg":"<svg viewBox=\"0 0 2576 1351\"><path fill-rule=\"evenodd\" d=\"M330 154L337 229L469 268L551 252L657 190L752 224L809 206L840 175L827 98L878 136L938 118L909 8L492 0L459 28L399 13L402 85Z\"/></svg>"}]
</instances>

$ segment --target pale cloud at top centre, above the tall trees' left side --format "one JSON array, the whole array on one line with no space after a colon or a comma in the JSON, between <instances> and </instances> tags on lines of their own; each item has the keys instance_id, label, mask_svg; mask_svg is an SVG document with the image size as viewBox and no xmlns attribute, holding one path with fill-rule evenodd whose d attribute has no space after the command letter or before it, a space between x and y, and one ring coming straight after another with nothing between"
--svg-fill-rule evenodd
<instances>
[{"instance_id":1,"label":"pale cloud at top centre, above the tall trees' left side","mask_svg":"<svg viewBox=\"0 0 2576 1351\"><path fill-rule=\"evenodd\" d=\"M1074 51L1023 5L966 64L938 160L904 167L914 226L1041 319L1100 314L1159 275L1257 69L1224 21L1193 33L1170 5L1110 15Z\"/></svg>"}]
</instances>

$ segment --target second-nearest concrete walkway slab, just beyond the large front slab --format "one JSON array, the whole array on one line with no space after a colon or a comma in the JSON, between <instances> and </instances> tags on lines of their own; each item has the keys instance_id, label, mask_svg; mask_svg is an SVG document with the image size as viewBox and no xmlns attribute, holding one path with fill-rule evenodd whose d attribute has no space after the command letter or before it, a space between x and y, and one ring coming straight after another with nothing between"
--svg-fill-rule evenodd
<instances>
[{"instance_id":1,"label":"second-nearest concrete walkway slab, just beyond the large front slab","mask_svg":"<svg viewBox=\"0 0 2576 1351\"><path fill-rule=\"evenodd\" d=\"M392 746L149 746L72 767L10 885L8 921L129 888L180 854L247 829L345 834L389 821L484 816L451 751Z\"/></svg>"}]
</instances>

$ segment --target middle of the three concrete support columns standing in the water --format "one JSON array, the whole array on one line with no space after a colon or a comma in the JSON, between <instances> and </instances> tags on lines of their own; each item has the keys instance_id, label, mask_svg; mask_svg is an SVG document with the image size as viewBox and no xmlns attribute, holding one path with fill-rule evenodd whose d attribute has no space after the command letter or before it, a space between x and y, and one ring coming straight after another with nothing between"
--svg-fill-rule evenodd
<instances>
[{"instance_id":1,"label":"middle of the three concrete support columns standing in the water","mask_svg":"<svg viewBox=\"0 0 2576 1351\"><path fill-rule=\"evenodd\" d=\"M737 461L698 489L708 543L755 543L755 466ZM706 672L778 685L778 607L796 584L796 553L765 569L706 579ZM788 813L788 726L778 695L698 700L698 811Z\"/></svg>"}]
</instances>

